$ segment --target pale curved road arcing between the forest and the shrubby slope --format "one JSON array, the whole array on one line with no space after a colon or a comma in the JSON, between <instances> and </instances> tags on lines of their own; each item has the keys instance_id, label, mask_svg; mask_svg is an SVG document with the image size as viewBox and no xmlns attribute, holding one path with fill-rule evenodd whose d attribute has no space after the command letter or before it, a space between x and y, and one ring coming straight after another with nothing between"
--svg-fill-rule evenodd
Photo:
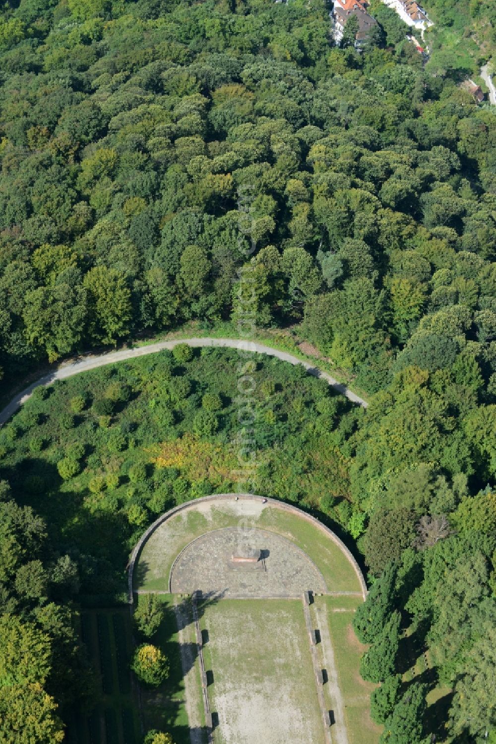
<instances>
[{"instance_id":1,"label":"pale curved road arcing between the forest and the shrubby slope","mask_svg":"<svg viewBox=\"0 0 496 744\"><path fill-rule=\"evenodd\" d=\"M66 377L72 377L80 372L86 372L88 370L95 369L97 367L103 367L105 365L115 364L115 362L125 362L126 359L134 359L136 356L146 356L146 354L152 354L163 349L173 349L177 344L190 344L190 346L202 347L202 346L216 346L216 347L228 347L231 349L240 349L246 351L256 351L260 354L267 354L268 356L276 356L277 359L282 359L283 362L289 362L291 365L303 365L309 374L315 377L322 377L332 388L338 393L346 395L347 398L352 400L353 403L359 403L367 408L367 401L360 396L353 393L346 385L342 385L337 379L330 376L328 373L323 372L309 362L302 362L297 359L296 356L287 353L286 351L280 351L273 349L265 344L259 344L256 341L240 341L237 339L175 339L174 341L158 341L156 344L149 344L149 346L141 346L136 349L124 349L122 351L110 351L104 354L98 354L97 356L84 356L80 359L74 359L72 362L68 362L61 365L54 371L40 377L29 385L28 388L13 397L8 405L5 406L3 411L0 411L0 426L2 426L10 417L17 411L22 403L33 393L34 388L38 385L50 385L57 379L65 379Z\"/></svg>"}]
</instances>

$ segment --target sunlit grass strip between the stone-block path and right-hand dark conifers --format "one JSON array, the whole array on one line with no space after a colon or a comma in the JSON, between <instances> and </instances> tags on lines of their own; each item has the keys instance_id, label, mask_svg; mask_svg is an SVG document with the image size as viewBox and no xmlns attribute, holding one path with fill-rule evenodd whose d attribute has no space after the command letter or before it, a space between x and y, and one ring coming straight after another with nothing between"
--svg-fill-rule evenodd
<instances>
[{"instance_id":1,"label":"sunlit grass strip between the stone-block path and right-hand dark conifers","mask_svg":"<svg viewBox=\"0 0 496 744\"><path fill-rule=\"evenodd\" d=\"M361 679L360 658L367 647L358 641L351 624L360 601L358 597L315 597L315 603L325 603L327 608L349 744L376 744L382 731L370 718L370 692L376 685Z\"/></svg>"}]
</instances>

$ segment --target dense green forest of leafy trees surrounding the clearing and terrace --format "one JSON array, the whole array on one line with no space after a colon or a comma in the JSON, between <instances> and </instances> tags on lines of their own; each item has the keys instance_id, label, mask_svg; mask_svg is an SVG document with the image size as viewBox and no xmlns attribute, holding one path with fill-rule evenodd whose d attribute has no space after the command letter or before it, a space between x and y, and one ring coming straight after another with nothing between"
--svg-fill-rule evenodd
<instances>
[{"instance_id":1,"label":"dense green forest of leafy trees surrounding the clearing and terrace","mask_svg":"<svg viewBox=\"0 0 496 744\"><path fill-rule=\"evenodd\" d=\"M370 395L365 414L343 414L346 498L329 484L318 496L306 478L290 482L292 493L270 487L357 539L372 589L356 629L373 643L362 674L383 683L372 701L383 741L477 742L486 731L494 741L495 113L449 69L423 68L394 14L382 14L359 54L332 46L328 13L320 0L4 4L2 392L96 345L191 320L236 324L245 267L257 327L296 327ZM87 417L95 442L129 446L135 434L112 420L117 392L102 396L101 423L81 413L81 393L83 408L62 408L57 426L71 432ZM8 743L60 740L54 699L63 714L91 696L67 602L97 569L57 554L42 517L42 493L54 487L44 479L66 482L74 463L80 478L86 452L59 457L67 437L42 423L43 405L39 394L2 432L1 477L12 489L0 503ZM161 426L173 423L168 408L159 414ZM320 415L336 437L335 411ZM196 437L222 438L220 416L202 413L207 429ZM326 436L314 446L329 456ZM45 447L45 471L25 472L25 458L43 461ZM293 439L289 459L295 451ZM109 529L115 520L131 541L154 510L141 487L124 508L91 472L100 467L86 462L81 488L91 503L113 504ZM181 478L196 495L202 478ZM122 575L107 568L113 593ZM408 658L425 652L428 668L412 672Z\"/></svg>"}]
</instances>

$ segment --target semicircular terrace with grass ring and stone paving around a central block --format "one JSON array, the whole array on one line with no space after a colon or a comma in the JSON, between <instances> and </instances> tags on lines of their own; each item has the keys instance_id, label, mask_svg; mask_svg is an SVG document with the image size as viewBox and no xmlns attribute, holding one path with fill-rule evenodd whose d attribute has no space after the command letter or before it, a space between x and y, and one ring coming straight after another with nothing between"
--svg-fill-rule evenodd
<instances>
[{"instance_id":1,"label":"semicircular terrace with grass ring and stone paving around a central block","mask_svg":"<svg viewBox=\"0 0 496 744\"><path fill-rule=\"evenodd\" d=\"M132 555L129 594L216 597L365 596L350 551L301 510L252 494L181 504L146 530Z\"/></svg>"}]
</instances>

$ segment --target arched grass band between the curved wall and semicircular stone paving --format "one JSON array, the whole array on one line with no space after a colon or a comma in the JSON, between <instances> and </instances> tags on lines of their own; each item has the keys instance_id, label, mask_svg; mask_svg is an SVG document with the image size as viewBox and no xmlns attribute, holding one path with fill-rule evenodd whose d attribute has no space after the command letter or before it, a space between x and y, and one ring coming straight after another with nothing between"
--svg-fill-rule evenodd
<instances>
[{"instance_id":1,"label":"arched grass band between the curved wall and semicircular stone paving","mask_svg":"<svg viewBox=\"0 0 496 744\"><path fill-rule=\"evenodd\" d=\"M305 551L321 570L329 591L361 591L352 564L341 548L306 519L272 506L260 507L257 513L243 518L236 513L235 504L235 501L218 502L215 506L197 504L158 527L138 559L135 589L168 591L170 568L186 545L205 532L236 527L246 519L248 527L271 530Z\"/></svg>"}]
</instances>

